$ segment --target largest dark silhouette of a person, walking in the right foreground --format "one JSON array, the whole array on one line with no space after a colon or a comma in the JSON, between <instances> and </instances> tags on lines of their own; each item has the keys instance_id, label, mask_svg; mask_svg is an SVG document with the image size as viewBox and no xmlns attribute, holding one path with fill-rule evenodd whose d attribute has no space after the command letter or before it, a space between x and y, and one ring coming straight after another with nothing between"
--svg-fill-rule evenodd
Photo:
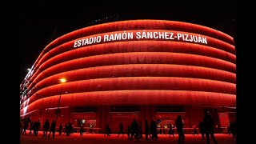
<instances>
[{"instance_id":1,"label":"largest dark silhouette of a person, walking in the right foreground","mask_svg":"<svg viewBox=\"0 0 256 144\"><path fill-rule=\"evenodd\" d=\"M210 111L207 111L203 118L203 126L206 130L207 144L210 144L210 138L214 141L214 144L217 144L218 142L214 138L214 119L210 116Z\"/></svg>"}]
</instances>

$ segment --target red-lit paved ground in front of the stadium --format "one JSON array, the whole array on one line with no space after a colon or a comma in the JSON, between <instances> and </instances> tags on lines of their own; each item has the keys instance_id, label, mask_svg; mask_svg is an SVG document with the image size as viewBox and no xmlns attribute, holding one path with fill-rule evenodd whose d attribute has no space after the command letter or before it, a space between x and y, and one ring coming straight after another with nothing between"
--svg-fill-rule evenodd
<instances>
[{"instance_id":1,"label":"red-lit paved ground in front of the stadium","mask_svg":"<svg viewBox=\"0 0 256 144\"><path fill-rule=\"evenodd\" d=\"M78 133L71 134L69 137L66 135L61 135L59 136L58 133L55 134L55 138L42 138L42 131L39 131L38 137L34 136L29 136L27 135L28 132L26 133L26 136L22 135L20 137L20 144L128 144L128 143L178 143L178 135L175 134L174 138L167 134L158 134L158 141L150 141L150 140L145 140L142 138L139 142L133 140L130 141L128 140L127 135L125 134L124 137L120 135L120 137L117 137L118 134L111 134L109 137L106 136L104 137L104 134L83 134L83 136L80 136ZM49 132L48 132L49 134ZM215 138L218 141L218 144L235 144L236 139L232 138L228 134L214 134ZM144 136L144 135L143 135ZM200 135L191 135L191 134L186 134L185 135L185 144L206 144L205 140L201 140ZM210 144L213 144L214 142L210 141Z\"/></svg>"}]
</instances>

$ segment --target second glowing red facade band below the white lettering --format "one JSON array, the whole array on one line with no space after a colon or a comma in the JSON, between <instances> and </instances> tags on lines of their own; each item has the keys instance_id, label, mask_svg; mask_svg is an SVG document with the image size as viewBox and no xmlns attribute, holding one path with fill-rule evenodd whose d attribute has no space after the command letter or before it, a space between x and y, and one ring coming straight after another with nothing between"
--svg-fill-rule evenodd
<instances>
[{"instance_id":1,"label":"second glowing red facade band below the white lettering","mask_svg":"<svg viewBox=\"0 0 256 144\"><path fill-rule=\"evenodd\" d=\"M189 60L188 60L189 59ZM128 64L177 64L186 66L203 66L218 70L226 70L235 73L235 65L231 62L226 62L216 58L199 56L194 54L180 53L150 53L150 52L134 52L134 53L118 53L104 54L94 57L79 58L68 62L62 62L52 66L39 74L34 79L34 84L40 82L42 78L50 75L62 73L69 70L78 70L82 68L95 66L111 66L111 65L128 65ZM66 77L66 75L65 75Z\"/></svg>"}]
</instances>

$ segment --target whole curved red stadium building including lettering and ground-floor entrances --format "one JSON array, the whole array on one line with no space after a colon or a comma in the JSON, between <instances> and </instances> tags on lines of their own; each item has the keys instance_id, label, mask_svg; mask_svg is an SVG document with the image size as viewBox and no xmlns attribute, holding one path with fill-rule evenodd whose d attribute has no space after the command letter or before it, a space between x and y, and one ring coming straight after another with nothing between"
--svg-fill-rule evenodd
<instances>
[{"instance_id":1,"label":"whole curved red stadium building including lettering and ground-floor entrances","mask_svg":"<svg viewBox=\"0 0 256 144\"><path fill-rule=\"evenodd\" d=\"M210 110L225 126L235 118L235 73L234 39L221 31L166 20L108 22L42 50L21 84L20 115L58 117L57 126L109 122L117 133L119 122L125 129L133 119L174 124L178 114L191 127Z\"/></svg>"}]
</instances>

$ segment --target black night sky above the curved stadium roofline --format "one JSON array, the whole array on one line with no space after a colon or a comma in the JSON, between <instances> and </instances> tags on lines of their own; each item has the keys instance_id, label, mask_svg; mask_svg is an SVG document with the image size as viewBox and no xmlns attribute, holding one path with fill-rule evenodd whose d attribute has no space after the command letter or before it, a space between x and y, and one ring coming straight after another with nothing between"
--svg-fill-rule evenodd
<instances>
[{"instance_id":1,"label":"black night sky above the curved stadium roofline","mask_svg":"<svg viewBox=\"0 0 256 144\"><path fill-rule=\"evenodd\" d=\"M90 2L90 3L89 3ZM20 2L20 82L36 58L54 38L92 26L97 19L114 22L127 19L164 19L192 22L236 34L235 1L54 1ZM110 16L113 16L110 18Z\"/></svg>"}]
</instances>

